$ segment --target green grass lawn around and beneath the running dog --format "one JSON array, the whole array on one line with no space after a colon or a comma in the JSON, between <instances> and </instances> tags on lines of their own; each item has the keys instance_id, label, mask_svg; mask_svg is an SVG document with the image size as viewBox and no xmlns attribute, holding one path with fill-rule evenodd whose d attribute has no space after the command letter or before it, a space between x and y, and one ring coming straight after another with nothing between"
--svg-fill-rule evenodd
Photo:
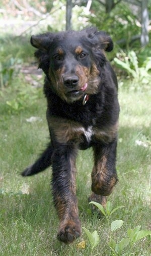
<instances>
[{"instance_id":1,"label":"green grass lawn around and beneath the running dog","mask_svg":"<svg viewBox=\"0 0 151 256\"><path fill-rule=\"evenodd\" d=\"M18 89L15 88L3 91L0 99L0 254L91 255L91 247L84 232L71 245L66 246L56 239L58 219L49 184L51 169L34 177L20 176L21 171L33 163L45 147L49 134L45 118L46 103L42 91L38 91L38 97L33 104L30 103L29 94L25 102L22 102L22 108L13 110L6 101L16 98ZM126 237L128 228L133 229L141 225L143 230L150 229L150 98L151 90L119 89L119 182L109 196L113 207L124 206L111 218L111 222L116 219L124 221L123 227L114 232L114 240L117 242ZM42 122L27 122L26 119L31 116L40 117ZM142 145L137 145L137 140L141 141ZM88 204L93 167L91 156L91 149L80 151L77 160L80 219L83 227L90 232L98 231L100 236L100 243L93 253L112 256L107 245L107 223L104 218L98 218L97 213L92 214ZM77 244L84 240L86 247L77 248ZM123 255L149 256L149 245L148 238L142 239L135 244L132 251L125 250Z\"/></svg>"}]
</instances>

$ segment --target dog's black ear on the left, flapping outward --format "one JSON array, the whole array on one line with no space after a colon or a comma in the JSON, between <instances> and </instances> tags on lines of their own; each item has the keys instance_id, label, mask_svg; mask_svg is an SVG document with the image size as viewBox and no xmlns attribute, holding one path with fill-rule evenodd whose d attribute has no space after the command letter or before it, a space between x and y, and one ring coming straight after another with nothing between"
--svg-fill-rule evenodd
<instances>
[{"instance_id":1,"label":"dog's black ear on the left, flapping outward","mask_svg":"<svg viewBox=\"0 0 151 256\"><path fill-rule=\"evenodd\" d=\"M45 33L41 35L32 35L30 42L31 44L38 49L47 49L50 46L50 43L53 40L52 33Z\"/></svg>"}]
</instances>

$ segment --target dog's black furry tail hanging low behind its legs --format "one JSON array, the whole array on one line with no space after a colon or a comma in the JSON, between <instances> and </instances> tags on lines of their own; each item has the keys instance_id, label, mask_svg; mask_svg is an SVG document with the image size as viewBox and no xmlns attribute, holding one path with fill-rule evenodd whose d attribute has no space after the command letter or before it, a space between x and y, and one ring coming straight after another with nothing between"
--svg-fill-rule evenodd
<instances>
[{"instance_id":1,"label":"dog's black furry tail hanging low behind its legs","mask_svg":"<svg viewBox=\"0 0 151 256\"><path fill-rule=\"evenodd\" d=\"M22 172L22 176L31 176L48 168L51 165L52 153L53 147L50 143L37 161Z\"/></svg>"}]
</instances>

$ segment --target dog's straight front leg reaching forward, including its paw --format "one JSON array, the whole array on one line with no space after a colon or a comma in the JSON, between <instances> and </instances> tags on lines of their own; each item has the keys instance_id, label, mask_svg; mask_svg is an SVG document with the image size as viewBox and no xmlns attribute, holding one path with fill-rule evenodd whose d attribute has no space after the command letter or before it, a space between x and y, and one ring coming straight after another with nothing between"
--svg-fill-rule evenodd
<instances>
[{"instance_id":1,"label":"dog's straight front leg reaching forward, including its paw","mask_svg":"<svg viewBox=\"0 0 151 256\"><path fill-rule=\"evenodd\" d=\"M52 192L60 219L57 237L64 243L70 243L81 235L75 196L76 152L72 145L57 144L52 156Z\"/></svg>"}]
</instances>

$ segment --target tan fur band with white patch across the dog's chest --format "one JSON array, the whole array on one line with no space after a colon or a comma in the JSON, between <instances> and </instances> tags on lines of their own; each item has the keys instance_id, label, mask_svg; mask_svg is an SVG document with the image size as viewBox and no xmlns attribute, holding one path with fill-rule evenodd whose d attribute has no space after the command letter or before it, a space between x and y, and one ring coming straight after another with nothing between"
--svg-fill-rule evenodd
<instances>
[{"instance_id":1,"label":"tan fur band with white patch across the dog's chest","mask_svg":"<svg viewBox=\"0 0 151 256\"><path fill-rule=\"evenodd\" d=\"M87 126L72 120L57 117L48 118L50 130L59 143L66 144L73 141L80 147L89 147L97 141L109 142L115 136L116 125L109 127Z\"/></svg>"}]
</instances>

